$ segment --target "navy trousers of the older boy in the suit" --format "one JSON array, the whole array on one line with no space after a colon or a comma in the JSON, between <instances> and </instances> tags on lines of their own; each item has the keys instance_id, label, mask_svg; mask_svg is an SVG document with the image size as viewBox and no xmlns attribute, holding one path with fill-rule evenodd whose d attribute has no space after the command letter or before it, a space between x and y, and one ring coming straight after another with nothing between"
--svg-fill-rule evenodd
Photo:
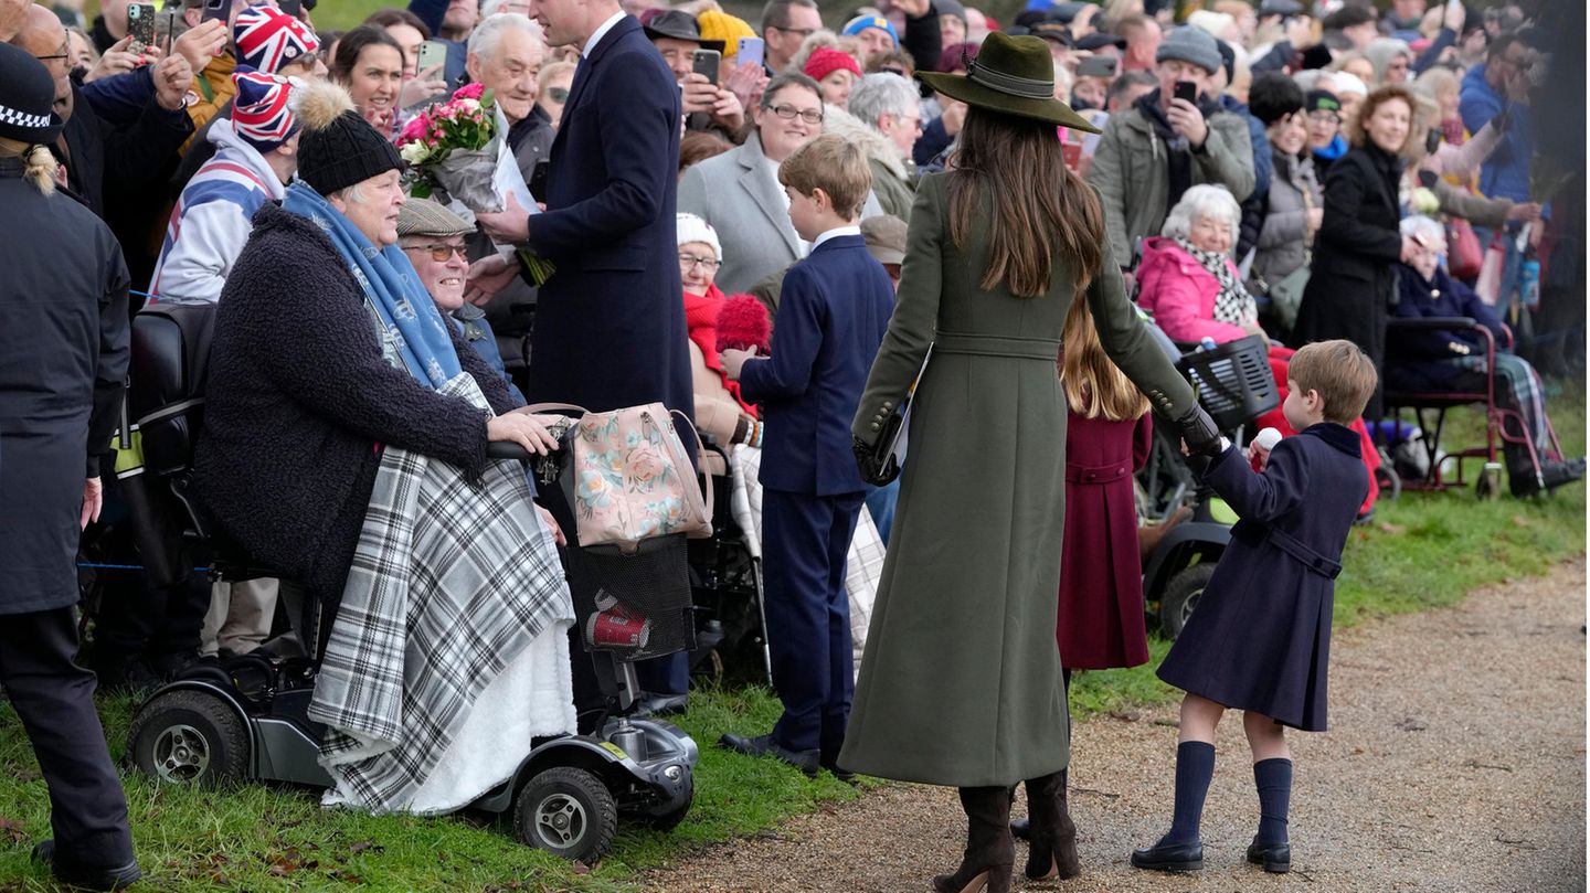
<instances>
[{"instance_id":1,"label":"navy trousers of the older boy in the suit","mask_svg":"<svg viewBox=\"0 0 1590 893\"><path fill-rule=\"evenodd\" d=\"M855 691L844 556L862 497L776 489L762 496L766 632L773 688L784 702L773 740L825 758L840 755Z\"/></svg>"}]
</instances>

